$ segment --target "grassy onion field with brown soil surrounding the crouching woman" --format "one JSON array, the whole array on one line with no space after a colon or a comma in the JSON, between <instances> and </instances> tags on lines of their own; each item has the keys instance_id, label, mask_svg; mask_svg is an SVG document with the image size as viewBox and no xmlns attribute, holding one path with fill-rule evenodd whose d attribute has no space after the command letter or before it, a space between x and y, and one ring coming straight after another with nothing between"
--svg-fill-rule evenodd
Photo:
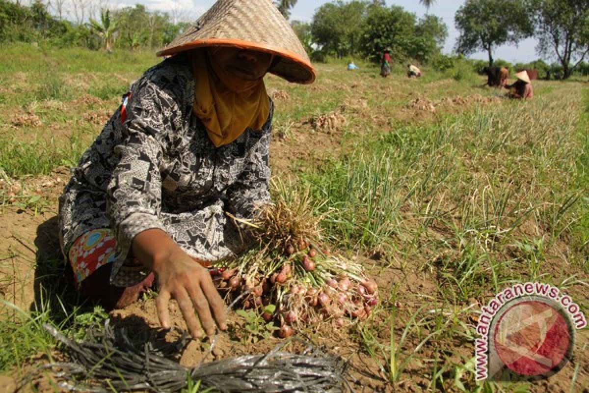
<instances>
[{"instance_id":1,"label":"grassy onion field with brown soil surrounding the crouching woman","mask_svg":"<svg viewBox=\"0 0 589 393\"><path fill-rule=\"evenodd\" d=\"M70 358L44 324L74 339L105 319L134 338L161 333L155 288L110 313L78 298L56 219L69 167L158 59L2 53L0 392L64 391L43 366ZM587 83L534 81L534 100L516 102L464 67L408 79L399 65L384 79L356 63L316 64L309 86L266 78L273 203L240 223L254 247L214 266L229 331L212 354L197 339L173 361L190 369L300 338L345 362L356 392L586 391L586 328L571 361L541 381L475 381L475 339L481 308L514 283L554 285L589 313ZM214 391L180 379L177 390Z\"/></svg>"}]
</instances>

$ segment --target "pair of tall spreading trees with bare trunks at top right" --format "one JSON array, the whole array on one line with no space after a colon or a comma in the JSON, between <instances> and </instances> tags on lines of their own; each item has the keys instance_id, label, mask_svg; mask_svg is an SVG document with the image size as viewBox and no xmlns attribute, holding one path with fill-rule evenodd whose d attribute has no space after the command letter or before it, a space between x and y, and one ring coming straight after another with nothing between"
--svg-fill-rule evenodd
<instances>
[{"instance_id":1,"label":"pair of tall spreading trees with bare trunks at top right","mask_svg":"<svg viewBox=\"0 0 589 393\"><path fill-rule=\"evenodd\" d=\"M570 77L589 52L589 0L466 0L455 15L461 54L492 51L534 37L539 55L554 58Z\"/></svg>"}]
</instances>

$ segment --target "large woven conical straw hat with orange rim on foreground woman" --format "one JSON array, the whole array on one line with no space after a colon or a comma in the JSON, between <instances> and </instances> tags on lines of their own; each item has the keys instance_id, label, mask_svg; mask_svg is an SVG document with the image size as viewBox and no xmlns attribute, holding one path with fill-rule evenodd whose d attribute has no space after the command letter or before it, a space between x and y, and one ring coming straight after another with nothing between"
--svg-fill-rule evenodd
<instances>
[{"instance_id":1,"label":"large woven conical straw hat with orange rim on foreground woman","mask_svg":"<svg viewBox=\"0 0 589 393\"><path fill-rule=\"evenodd\" d=\"M157 55L215 46L277 55L269 70L273 74L289 82L315 80L307 52L271 0L219 0Z\"/></svg>"}]
</instances>

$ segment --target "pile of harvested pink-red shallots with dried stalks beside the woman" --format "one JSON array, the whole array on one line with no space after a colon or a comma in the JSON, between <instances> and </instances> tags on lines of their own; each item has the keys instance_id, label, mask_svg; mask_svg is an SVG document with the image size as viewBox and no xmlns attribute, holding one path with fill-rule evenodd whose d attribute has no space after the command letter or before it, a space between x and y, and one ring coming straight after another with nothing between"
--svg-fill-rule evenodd
<instances>
[{"instance_id":1,"label":"pile of harvested pink-red shallots with dried stalks beside the woman","mask_svg":"<svg viewBox=\"0 0 589 393\"><path fill-rule=\"evenodd\" d=\"M276 202L244 222L254 246L226 266L217 285L227 298L246 292L241 306L257 309L288 337L303 325L337 327L368 318L378 302L376 283L361 265L330 252L321 242L309 190L273 182Z\"/></svg>"}]
</instances>

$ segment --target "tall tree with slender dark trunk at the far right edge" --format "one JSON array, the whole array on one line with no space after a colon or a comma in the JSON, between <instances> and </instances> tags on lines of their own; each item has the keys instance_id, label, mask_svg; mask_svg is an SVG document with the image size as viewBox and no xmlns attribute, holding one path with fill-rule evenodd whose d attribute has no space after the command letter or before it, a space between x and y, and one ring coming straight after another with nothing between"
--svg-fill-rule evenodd
<instances>
[{"instance_id":1,"label":"tall tree with slender dark trunk at the far right edge","mask_svg":"<svg viewBox=\"0 0 589 393\"><path fill-rule=\"evenodd\" d=\"M532 0L531 8L538 54L557 58L570 77L589 52L589 0Z\"/></svg>"}]
</instances>

